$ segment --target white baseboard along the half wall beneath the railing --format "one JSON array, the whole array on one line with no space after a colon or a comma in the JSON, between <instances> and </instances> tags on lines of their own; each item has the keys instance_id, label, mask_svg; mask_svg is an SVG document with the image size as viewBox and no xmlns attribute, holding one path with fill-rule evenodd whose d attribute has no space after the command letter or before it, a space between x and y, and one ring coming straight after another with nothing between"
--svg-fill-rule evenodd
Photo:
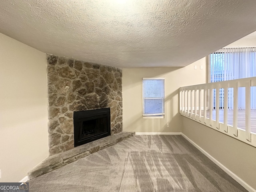
<instances>
[{"instance_id":1,"label":"white baseboard along the half wall beneath the railing","mask_svg":"<svg viewBox=\"0 0 256 192\"><path fill-rule=\"evenodd\" d=\"M224 172L226 172L230 177L232 177L236 182L238 182L240 185L242 185L246 190L249 192L256 192L254 188L252 188L250 185L248 185L244 180L242 180L240 177L238 177L236 174L234 174L232 171L230 171L228 168L226 168L223 164L221 164L218 160L216 160L213 156L208 154L205 150L203 150L198 144L196 144L194 141L192 141L190 138L188 138L186 135L181 133L181 135L188 140L192 145L194 145L198 150L200 150L206 157L208 157L212 162L214 162L217 166L219 166Z\"/></svg>"}]
</instances>

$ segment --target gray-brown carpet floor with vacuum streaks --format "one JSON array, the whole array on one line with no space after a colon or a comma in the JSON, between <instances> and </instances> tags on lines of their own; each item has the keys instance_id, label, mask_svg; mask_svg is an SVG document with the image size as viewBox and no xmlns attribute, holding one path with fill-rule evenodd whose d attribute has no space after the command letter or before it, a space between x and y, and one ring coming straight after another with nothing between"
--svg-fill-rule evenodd
<instances>
[{"instance_id":1,"label":"gray-brown carpet floor with vacuum streaks","mask_svg":"<svg viewBox=\"0 0 256 192\"><path fill-rule=\"evenodd\" d=\"M29 181L30 192L247 192L182 136L134 136Z\"/></svg>"}]
</instances>

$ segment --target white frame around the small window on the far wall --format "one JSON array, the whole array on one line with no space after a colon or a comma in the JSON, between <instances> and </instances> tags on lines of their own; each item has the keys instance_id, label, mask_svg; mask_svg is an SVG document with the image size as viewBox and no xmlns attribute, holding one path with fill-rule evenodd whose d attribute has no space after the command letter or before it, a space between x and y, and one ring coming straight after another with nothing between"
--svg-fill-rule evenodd
<instances>
[{"instance_id":1,"label":"white frame around the small window on the far wall","mask_svg":"<svg viewBox=\"0 0 256 192\"><path fill-rule=\"evenodd\" d=\"M160 99L163 100L163 102L161 102L164 110L163 110L163 114L161 115L145 115L144 114L144 89L143 89L143 80L164 80L164 96L161 97ZM159 77L159 78L142 78L142 118L164 118L165 117L165 78L164 77Z\"/></svg>"}]
</instances>

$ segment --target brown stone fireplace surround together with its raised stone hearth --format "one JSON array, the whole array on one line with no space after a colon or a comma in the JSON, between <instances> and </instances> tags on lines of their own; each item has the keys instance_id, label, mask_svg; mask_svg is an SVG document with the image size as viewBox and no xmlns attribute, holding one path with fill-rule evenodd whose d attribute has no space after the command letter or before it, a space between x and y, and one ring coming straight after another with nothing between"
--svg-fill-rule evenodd
<instances>
[{"instance_id":1,"label":"brown stone fireplace surround together with its raised stone hearth","mask_svg":"<svg viewBox=\"0 0 256 192\"><path fill-rule=\"evenodd\" d=\"M32 179L135 135L122 132L122 70L47 54L49 157ZM110 108L111 135L74 148L75 111Z\"/></svg>"}]
</instances>

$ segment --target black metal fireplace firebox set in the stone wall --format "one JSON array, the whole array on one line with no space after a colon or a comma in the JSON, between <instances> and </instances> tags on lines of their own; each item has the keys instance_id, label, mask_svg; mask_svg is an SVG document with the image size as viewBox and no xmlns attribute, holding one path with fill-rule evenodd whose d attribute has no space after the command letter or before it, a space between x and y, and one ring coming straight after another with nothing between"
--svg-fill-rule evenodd
<instances>
[{"instance_id":1,"label":"black metal fireplace firebox set in the stone wall","mask_svg":"<svg viewBox=\"0 0 256 192\"><path fill-rule=\"evenodd\" d=\"M110 108L74 112L74 146L110 135Z\"/></svg>"}]
</instances>

